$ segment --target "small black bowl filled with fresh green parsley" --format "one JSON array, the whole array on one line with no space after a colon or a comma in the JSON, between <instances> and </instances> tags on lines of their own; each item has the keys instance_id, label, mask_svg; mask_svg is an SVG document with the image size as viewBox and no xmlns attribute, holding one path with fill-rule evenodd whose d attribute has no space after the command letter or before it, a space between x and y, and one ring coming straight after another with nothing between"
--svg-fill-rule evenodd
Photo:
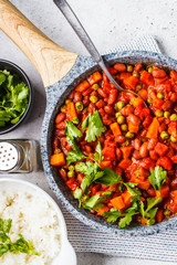
<instances>
[{"instance_id":1,"label":"small black bowl filled with fresh green parsley","mask_svg":"<svg viewBox=\"0 0 177 265\"><path fill-rule=\"evenodd\" d=\"M27 74L15 64L0 60L0 135L21 124L32 103Z\"/></svg>"}]
</instances>

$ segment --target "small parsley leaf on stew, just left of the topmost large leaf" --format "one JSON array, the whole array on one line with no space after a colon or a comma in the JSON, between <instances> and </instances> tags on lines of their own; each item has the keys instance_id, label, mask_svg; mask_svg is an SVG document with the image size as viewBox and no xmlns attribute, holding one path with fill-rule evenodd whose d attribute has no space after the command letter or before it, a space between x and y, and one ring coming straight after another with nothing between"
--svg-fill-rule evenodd
<instances>
[{"instance_id":1,"label":"small parsley leaf on stew, just left of the topmost large leaf","mask_svg":"<svg viewBox=\"0 0 177 265\"><path fill-rule=\"evenodd\" d=\"M74 146L74 140L83 136L82 131L72 121L65 121L64 134L70 146Z\"/></svg>"}]
</instances>

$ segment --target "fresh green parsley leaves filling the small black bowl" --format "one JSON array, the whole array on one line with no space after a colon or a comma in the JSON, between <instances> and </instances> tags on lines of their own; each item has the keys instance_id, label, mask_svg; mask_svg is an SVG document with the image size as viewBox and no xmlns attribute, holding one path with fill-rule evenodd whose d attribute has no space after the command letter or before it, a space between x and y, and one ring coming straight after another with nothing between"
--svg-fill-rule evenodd
<instances>
[{"instance_id":1,"label":"fresh green parsley leaves filling the small black bowl","mask_svg":"<svg viewBox=\"0 0 177 265\"><path fill-rule=\"evenodd\" d=\"M17 74L0 71L0 127L17 124L29 104L29 87Z\"/></svg>"}]
</instances>

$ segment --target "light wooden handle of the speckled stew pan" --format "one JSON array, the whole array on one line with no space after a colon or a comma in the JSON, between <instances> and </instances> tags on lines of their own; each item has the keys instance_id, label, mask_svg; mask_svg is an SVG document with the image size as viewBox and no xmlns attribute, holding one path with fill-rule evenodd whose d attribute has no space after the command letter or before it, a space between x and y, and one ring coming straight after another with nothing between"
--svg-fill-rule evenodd
<instances>
[{"instance_id":1,"label":"light wooden handle of the speckled stew pan","mask_svg":"<svg viewBox=\"0 0 177 265\"><path fill-rule=\"evenodd\" d=\"M77 59L45 36L8 0L0 0L0 29L35 66L45 87L62 80Z\"/></svg>"}]
</instances>

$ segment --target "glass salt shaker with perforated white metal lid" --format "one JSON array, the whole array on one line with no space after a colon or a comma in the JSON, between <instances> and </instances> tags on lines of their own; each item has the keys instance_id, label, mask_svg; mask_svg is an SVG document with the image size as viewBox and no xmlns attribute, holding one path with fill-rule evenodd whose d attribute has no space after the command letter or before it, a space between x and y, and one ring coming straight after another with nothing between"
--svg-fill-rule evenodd
<instances>
[{"instance_id":1,"label":"glass salt shaker with perforated white metal lid","mask_svg":"<svg viewBox=\"0 0 177 265\"><path fill-rule=\"evenodd\" d=\"M37 171L35 140L0 140L0 173Z\"/></svg>"}]
</instances>

